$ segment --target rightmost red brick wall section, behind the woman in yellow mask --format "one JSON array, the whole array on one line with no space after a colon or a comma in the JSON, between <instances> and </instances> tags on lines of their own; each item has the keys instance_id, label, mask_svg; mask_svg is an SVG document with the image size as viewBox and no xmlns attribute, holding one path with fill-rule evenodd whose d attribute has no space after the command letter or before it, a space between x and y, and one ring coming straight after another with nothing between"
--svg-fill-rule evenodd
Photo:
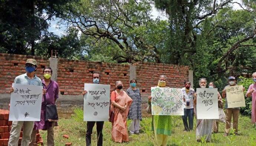
<instances>
[{"instance_id":1,"label":"rightmost red brick wall section, behind the woman in yellow mask","mask_svg":"<svg viewBox=\"0 0 256 146\"><path fill-rule=\"evenodd\" d=\"M151 87L157 86L158 78L162 74L167 76L166 86L173 88L184 87L184 80L188 79L188 66L147 62L138 62L133 65L136 66L137 84L142 96L151 94Z\"/></svg>"}]
</instances>

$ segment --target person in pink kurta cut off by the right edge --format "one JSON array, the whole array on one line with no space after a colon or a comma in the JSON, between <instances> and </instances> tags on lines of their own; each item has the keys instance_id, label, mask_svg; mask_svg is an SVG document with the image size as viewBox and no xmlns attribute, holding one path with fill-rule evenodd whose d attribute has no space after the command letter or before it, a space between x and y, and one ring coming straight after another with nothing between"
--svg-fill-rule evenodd
<instances>
[{"instance_id":1,"label":"person in pink kurta cut off by the right edge","mask_svg":"<svg viewBox=\"0 0 256 146\"><path fill-rule=\"evenodd\" d=\"M252 96L252 123L255 123L256 126L256 72L252 74L252 77L254 84L249 86L246 96Z\"/></svg>"}]
</instances>

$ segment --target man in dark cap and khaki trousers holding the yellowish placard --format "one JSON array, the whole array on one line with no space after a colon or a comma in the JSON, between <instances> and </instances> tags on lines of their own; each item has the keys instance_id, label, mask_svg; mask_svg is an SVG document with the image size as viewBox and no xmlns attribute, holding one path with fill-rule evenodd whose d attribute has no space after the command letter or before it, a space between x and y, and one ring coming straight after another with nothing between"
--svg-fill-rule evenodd
<instances>
[{"instance_id":1,"label":"man in dark cap and khaki trousers holding the yellowish placard","mask_svg":"<svg viewBox=\"0 0 256 146\"><path fill-rule=\"evenodd\" d=\"M222 98L226 98L226 88L230 86L236 86L236 78L233 76L229 77L229 85L227 85L224 90L222 91ZM243 87L243 91L245 88ZM226 113L226 127L225 127L225 133L223 136L229 135L230 130L230 124L231 124L231 118L233 117L233 129L235 130L234 134L237 135L238 133L238 117L239 117L239 107L235 108L227 108L227 101L225 105L225 113Z\"/></svg>"}]
</instances>

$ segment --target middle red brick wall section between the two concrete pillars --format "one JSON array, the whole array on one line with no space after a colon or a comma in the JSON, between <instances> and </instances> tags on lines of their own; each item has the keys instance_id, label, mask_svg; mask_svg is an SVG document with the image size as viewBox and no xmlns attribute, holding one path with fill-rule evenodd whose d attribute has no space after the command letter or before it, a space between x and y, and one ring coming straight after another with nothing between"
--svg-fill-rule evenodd
<instances>
[{"instance_id":1,"label":"middle red brick wall section between the two concrete pillars","mask_svg":"<svg viewBox=\"0 0 256 146\"><path fill-rule=\"evenodd\" d=\"M81 60L59 59L58 77L59 91L64 95L79 95L84 83L92 83L92 72L100 73L101 84L110 84L111 90L115 81L121 80L125 89L129 87L129 65L85 62Z\"/></svg>"}]
</instances>

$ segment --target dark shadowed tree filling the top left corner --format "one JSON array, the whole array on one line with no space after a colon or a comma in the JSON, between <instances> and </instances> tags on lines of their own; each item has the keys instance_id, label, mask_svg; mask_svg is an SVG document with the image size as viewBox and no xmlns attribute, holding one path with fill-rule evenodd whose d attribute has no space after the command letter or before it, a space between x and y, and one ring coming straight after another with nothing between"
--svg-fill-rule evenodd
<instances>
[{"instance_id":1,"label":"dark shadowed tree filling the top left corner","mask_svg":"<svg viewBox=\"0 0 256 146\"><path fill-rule=\"evenodd\" d=\"M1 52L35 55L36 40L47 31L48 21L62 13L68 1L1 0Z\"/></svg>"}]
</instances>

